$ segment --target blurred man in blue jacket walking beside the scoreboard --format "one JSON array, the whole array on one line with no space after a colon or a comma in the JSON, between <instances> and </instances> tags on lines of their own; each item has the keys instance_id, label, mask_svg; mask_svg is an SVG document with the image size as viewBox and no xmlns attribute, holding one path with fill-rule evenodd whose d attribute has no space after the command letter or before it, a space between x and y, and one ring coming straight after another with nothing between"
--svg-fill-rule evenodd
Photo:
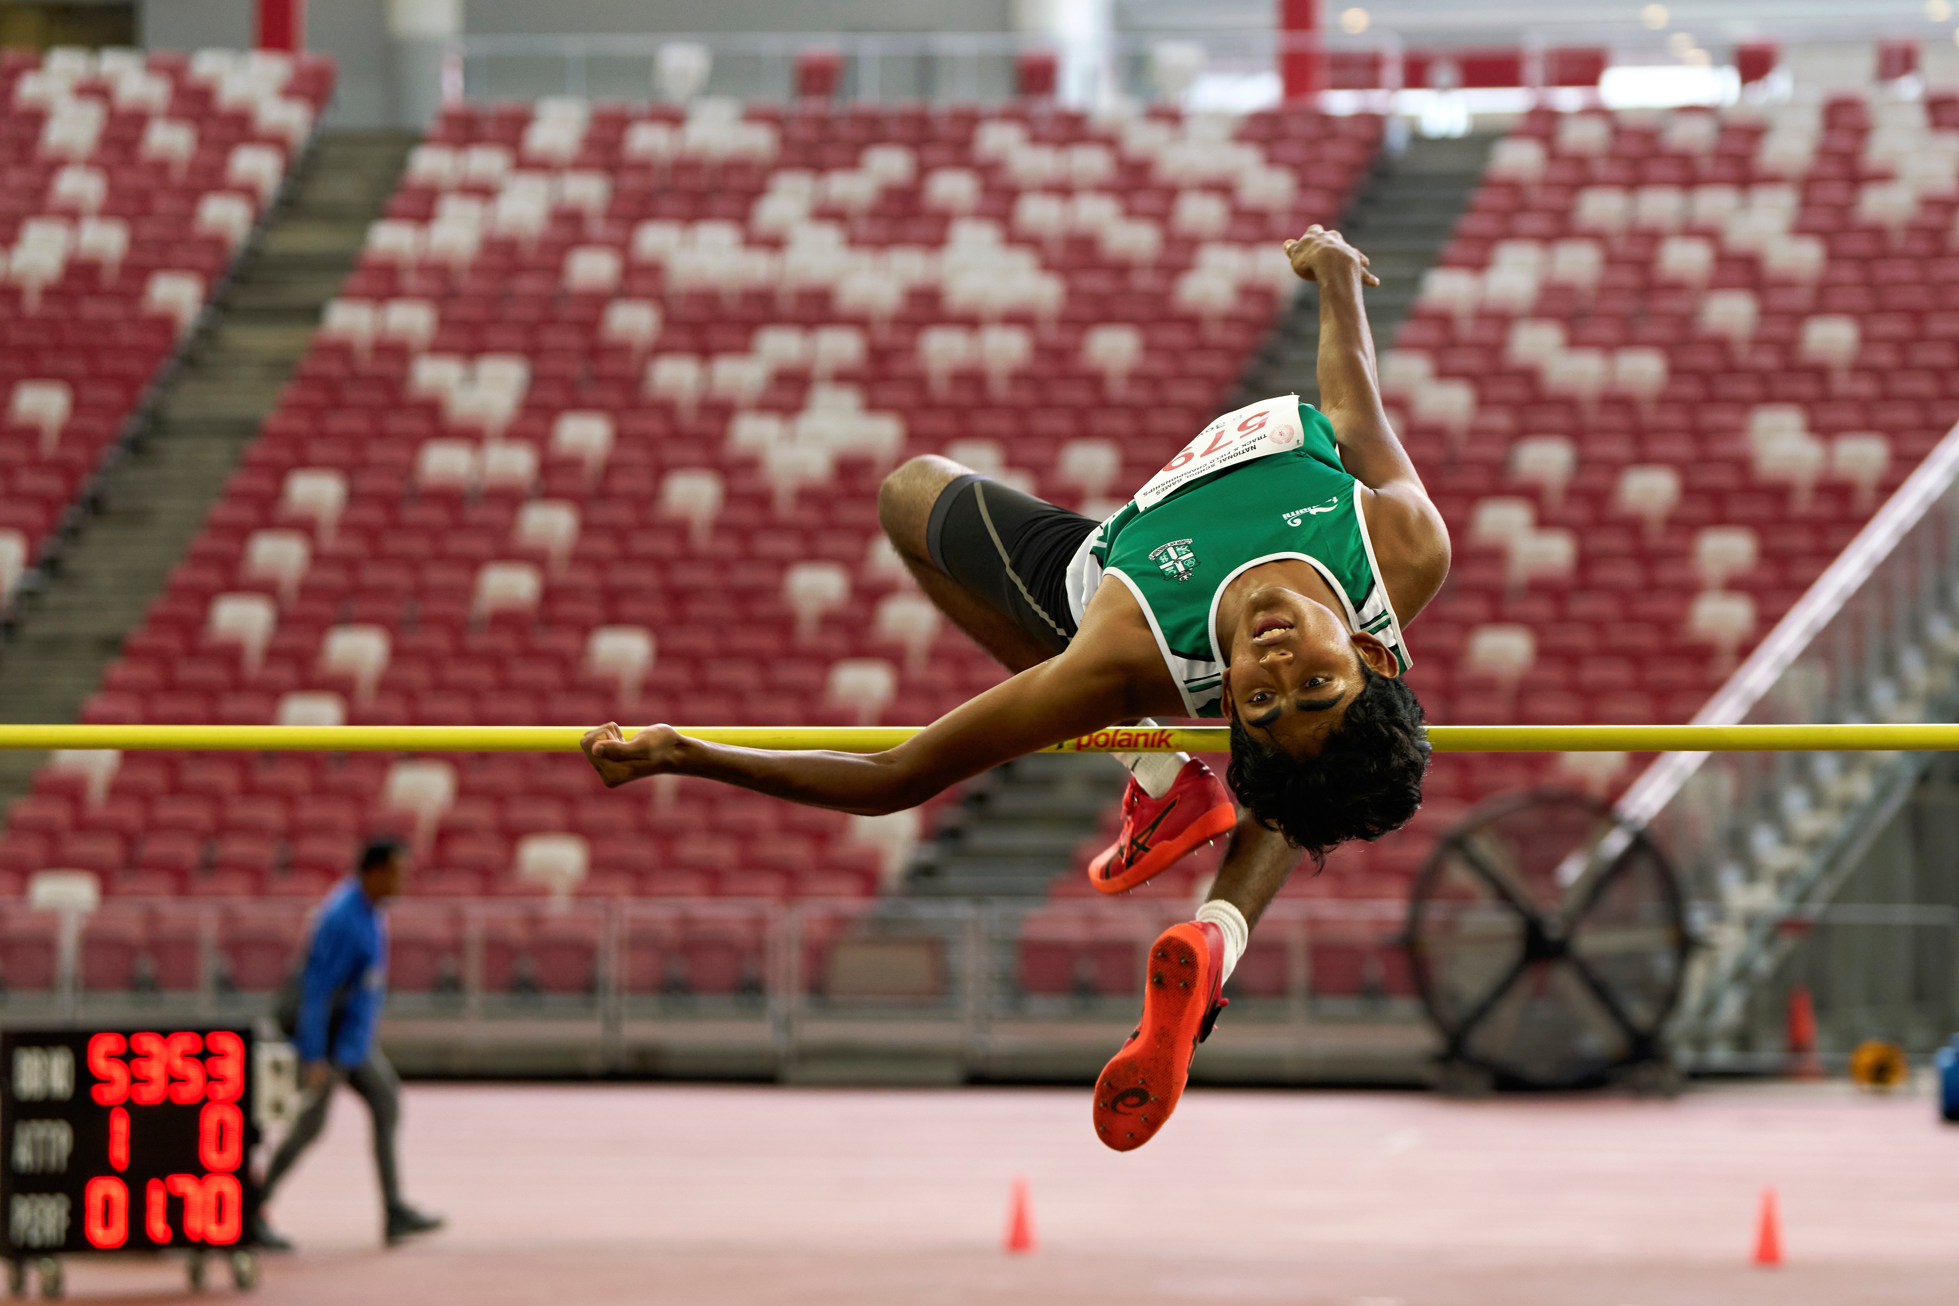
<instances>
[{"instance_id":1,"label":"blurred man in blue jacket walking beside the scoreboard","mask_svg":"<svg viewBox=\"0 0 1959 1306\"><path fill-rule=\"evenodd\" d=\"M388 1220L384 1236L396 1245L413 1234L443 1226L402 1200L402 1181L394 1161L394 1126L402 1116L402 1081L388 1057L374 1046L374 1024L388 997L388 922L380 905L402 891L407 854L394 840L376 840L360 854L360 869L349 875L319 905L302 965L286 981L278 1003L278 1022L300 1049L304 1089L300 1118L272 1155L261 1185L261 1208L272 1200L278 1181L300 1159L327 1124L333 1087L341 1079L366 1098L374 1116L374 1169ZM284 1237L259 1218L253 1230L259 1245L284 1251Z\"/></svg>"}]
</instances>

